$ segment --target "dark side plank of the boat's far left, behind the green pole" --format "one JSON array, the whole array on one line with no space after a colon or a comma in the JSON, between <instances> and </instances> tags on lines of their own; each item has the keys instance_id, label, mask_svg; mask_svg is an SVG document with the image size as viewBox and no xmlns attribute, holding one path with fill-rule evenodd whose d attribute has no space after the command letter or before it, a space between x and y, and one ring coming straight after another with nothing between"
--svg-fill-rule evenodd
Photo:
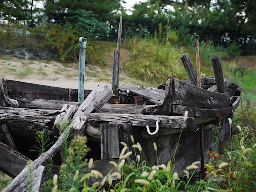
<instances>
[{"instance_id":1,"label":"dark side plank of the boat's far left, behind the green pole","mask_svg":"<svg viewBox=\"0 0 256 192\"><path fill-rule=\"evenodd\" d=\"M59 88L32 84L15 80L6 80L8 94L18 101L33 101L35 99L64 100L77 102L78 89ZM84 90L85 97L91 90Z\"/></svg>"}]
</instances>

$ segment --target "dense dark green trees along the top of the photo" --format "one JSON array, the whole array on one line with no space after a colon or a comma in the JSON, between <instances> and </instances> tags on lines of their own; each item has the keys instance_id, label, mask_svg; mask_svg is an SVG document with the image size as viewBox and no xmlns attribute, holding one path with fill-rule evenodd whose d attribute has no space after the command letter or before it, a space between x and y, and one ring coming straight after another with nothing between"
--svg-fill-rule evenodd
<instances>
[{"instance_id":1,"label":"dense dark green trees along the top of the photo","mask_svg":"<svg viewBox=\"0 0 256 192\"><path fill-rule=\"evenodd\" d=\"M177 45L191 46L192 36L198 33L203 41L229 48L233 56L240 53L238 48L244 55L255 54L255 0L148 0L135 4L131 14L121 7L121 1L125 2L3 0L0 35L8 32L6 24L36 28L51 23L60 24L77 36L114 41L122 12L123 39L157 36L165 40L177 34Z\"/></svg>"}]
</instances>

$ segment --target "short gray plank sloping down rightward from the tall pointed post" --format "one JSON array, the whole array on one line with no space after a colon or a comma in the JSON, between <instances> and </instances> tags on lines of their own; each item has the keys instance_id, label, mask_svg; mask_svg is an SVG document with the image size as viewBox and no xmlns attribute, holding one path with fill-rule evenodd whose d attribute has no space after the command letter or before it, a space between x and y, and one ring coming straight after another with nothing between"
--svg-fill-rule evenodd
<instances>
[{"instance_id":1,"label":"short gray plank sloping down rightward from the tall pointed post","mask_svg":"<svg viewBox=\"0 0 256 192\"><path fill-rule=\"evenodd\" d=\"M151 90L147 90L145 88L139 88L136 86L121 86L119 87L119 89L121 91L127 91L129 90L131 93L137 94L139 96L142 96L146 99L150 99L151 102L155 103L155 104L161 104L163 99L164 99L164 95L161 93L158 93L156 91L151 91Z\"/></svg>"}]
</instances>

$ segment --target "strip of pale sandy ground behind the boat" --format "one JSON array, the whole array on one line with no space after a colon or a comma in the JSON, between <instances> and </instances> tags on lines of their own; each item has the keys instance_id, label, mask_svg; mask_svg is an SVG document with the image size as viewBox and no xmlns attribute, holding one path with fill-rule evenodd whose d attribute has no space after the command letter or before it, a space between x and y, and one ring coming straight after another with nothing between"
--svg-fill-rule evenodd
<instances>
[{"instance_id":1,"label":"strip of pale sandy ground behind the boat","mask_svg":"<svg viewBox=\"0 0 256 192\"><path fill-rule=\"evenodd\" d=\"M94 89L100 82L111 84L110 66L86 66L85 89ZM5 79L63 88L78 88L78 63L63 65L55 61L22 60L14 57L0 59L0 76ZM120 71L120 85L144 85Z\"/></svg>"}]
</instances>

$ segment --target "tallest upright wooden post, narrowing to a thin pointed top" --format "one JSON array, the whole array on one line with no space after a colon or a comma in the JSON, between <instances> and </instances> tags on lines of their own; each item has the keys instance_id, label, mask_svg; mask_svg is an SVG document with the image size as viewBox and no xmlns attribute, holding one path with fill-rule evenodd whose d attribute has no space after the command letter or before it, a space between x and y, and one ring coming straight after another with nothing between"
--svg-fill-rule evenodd
<instances>
[{"instance_id":1,"label":"tallest upright wooden post, narrowing to a thin pointed top","mask_svg":"<svg viewBox=\"0 0 256 192\"><path fill-rule=\"evenodd\" d=\"M117 50L114 50L113 61L113 74L112 74L112 90L115 96L119 96L119 72L120 72L120 49L121 49L121 36L122 36L122 15L120 17Z\"/></svg>"}]
</instances>

